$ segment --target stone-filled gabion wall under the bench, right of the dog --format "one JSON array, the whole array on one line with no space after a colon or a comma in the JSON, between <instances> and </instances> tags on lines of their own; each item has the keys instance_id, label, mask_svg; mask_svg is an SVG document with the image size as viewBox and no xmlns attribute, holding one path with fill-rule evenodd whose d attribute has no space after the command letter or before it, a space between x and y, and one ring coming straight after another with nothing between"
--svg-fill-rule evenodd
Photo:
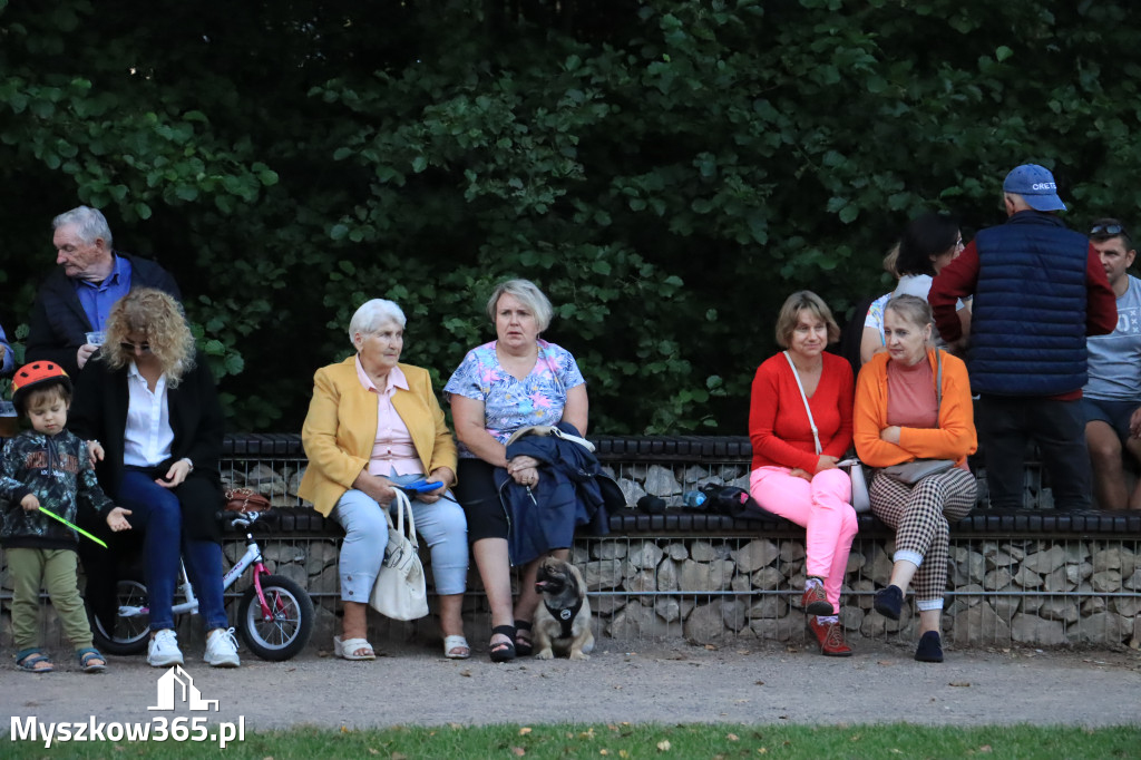
<instances>
[{"instance_id":1,"label":"stone-filled gabion wall under the bench, right of the dog","mask_svg":"<svg viewBox=\"0 0 1141 760\"><path fill-rule=\"evenodd\" d=\"M840 620L850 636L915 637L872 609L891 571L890 541L859 540ZM758 539L598 539L575 548L606 633L709 642L725 636L799 640L804 544ZM952 547L945 637L981 646L1141 644L1135 541L963 541Z\"/></svg>"}]
</instances>

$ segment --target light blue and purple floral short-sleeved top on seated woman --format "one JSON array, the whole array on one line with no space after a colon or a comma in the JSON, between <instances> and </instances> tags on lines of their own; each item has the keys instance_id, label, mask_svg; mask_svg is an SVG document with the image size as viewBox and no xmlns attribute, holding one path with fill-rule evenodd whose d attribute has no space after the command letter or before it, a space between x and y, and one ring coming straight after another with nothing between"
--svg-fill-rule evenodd
<instances>
[{"instance_id":1,"label":"light blue and purple floral short-sleeved top on seated woman","mask_svg":"<svg viewBox=\"0 0 1141 760\"><path fill-rule=\"evenodd\" d=\"M484 427L502 444L519 428L556 425L563 419L567 390L586 382L570 351L539 341L539 358L523 380L500 366L495 342L468 351L444 386L444 395L456 394L484 403ZM460 444L460 456L475 456Z\"/></svg>"}]
</instances>

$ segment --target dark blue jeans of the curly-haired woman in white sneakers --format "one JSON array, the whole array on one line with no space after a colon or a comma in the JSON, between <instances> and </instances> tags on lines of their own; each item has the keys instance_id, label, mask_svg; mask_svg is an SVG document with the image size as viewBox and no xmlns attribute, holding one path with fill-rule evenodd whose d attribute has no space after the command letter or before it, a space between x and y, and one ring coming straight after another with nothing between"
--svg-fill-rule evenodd
<instances>
[{"instance_id":1,"label":"dark blue jeans of the curly-haired woman in white sneakers","mask_svg":"<svg viewBox=\"0 0 1141 760\"><path fill-rule=\"evenodd\" d=\"M118 503L131 510L128 517L131 529L145 533L143 553L151 630L175 628L171 607L178 585L179 556L186 559L186 572L199 598L205 629L228 628L221 588L221 547L183 534L183 507L178 498L145 472L127 470Z\"/></svg>"}]
</instances>

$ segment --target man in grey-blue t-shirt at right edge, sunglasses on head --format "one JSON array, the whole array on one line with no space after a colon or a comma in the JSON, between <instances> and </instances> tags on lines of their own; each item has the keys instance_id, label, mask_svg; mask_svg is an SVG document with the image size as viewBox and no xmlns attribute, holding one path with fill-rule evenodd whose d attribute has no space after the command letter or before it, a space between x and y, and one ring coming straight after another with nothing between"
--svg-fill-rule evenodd
<instances>
[{"instance_id":1,"label":"man in grey-blue t-shirt at right edge, sunglasses on head","mask_svg":"<svg viewBox=\"0 0 1141 760\"><path fill-rule=\"evenodd\" d=\"M1102 509L1141 509L1141 480L1126 485L1122 447L1141 462L1141 280L1126 273L1136 251L1117 219L1099 219L1090 242L1117 296L1117 328L1086 339L1090 381L1082 389L1085 439Z\"/></svg>"}]
</instances>

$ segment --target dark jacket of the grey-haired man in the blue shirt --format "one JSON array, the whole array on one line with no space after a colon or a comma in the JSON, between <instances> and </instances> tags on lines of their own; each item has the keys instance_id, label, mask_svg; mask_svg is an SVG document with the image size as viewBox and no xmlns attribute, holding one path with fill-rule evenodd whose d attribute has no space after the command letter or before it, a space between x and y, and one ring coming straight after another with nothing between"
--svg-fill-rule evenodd
<instances>
[{"instance_id":1,"label":"dark jacket of the grey-haired man in the blue shirt","mask_svg":"<svg viewBox=\"0 0 1141 760\"><path fill-rule=\"evenodd\" d=\"M157 288L177 300L183 300L175 278L154 261L118 251L115 256L130 261L132 289ZM80 371L75 353L87 342L86 333L90 331L91 321L87 318L83 305L79 302L74 284L64 274L63 267L56 267L35 294L24 361L55 362L75 379Z\"/></svg>"}]
</instances>

